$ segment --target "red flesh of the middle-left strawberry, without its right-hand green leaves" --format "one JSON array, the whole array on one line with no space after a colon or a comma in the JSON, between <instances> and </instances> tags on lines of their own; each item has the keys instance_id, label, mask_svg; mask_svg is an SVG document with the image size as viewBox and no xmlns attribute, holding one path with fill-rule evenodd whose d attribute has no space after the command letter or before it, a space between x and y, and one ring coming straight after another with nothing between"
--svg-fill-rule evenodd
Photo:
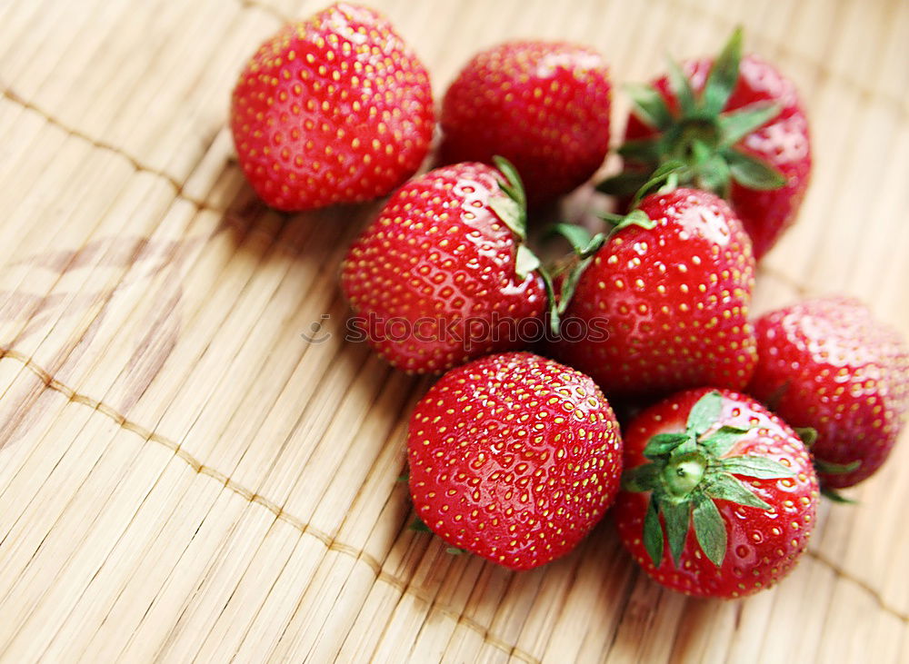
<instances>
[{"instance_id":1,"label":"red flesh of the middle-left strawberry, without its right-hand green leaves","mask_svg":"<svg viewBox=\"0 0 909 664\"><path fill-rule=\"evenodd\" d=\"M522 322L542 320L543 280L514 272L514 233L490 207L502 195L499 178L484 164L425 173L392 196L347 253L342 290L373 321L368 341L396 368L442 372L520 349Z\"/></svg>"}]
</instances>

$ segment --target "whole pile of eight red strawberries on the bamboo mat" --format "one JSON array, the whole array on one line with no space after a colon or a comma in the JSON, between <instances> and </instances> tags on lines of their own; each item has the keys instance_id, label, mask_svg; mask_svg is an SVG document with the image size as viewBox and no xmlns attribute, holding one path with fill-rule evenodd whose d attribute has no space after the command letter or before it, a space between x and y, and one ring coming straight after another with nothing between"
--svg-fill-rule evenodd
<instances>
[{"instance_id":1,"label":"whole pile of eight red strawberries on the bamboo mat","mask_svg":"<svg viewBox=\"0 0 909 664\"><path fill-rule=\"evenodd\" d=\"M573 251L554 266L528 246L528 210L604 164L611 84L594 50L476 55L441 104L438 167L409 181L435 109L383 16L332 5L246 65L231 128L265 203L394 192L341 284L385 360L445 372L407 445L416 514L452 547L533 568L614 504L655 580L743 596L793 567L821 491L868 478L894 445L909 407L895 332L841 297L749 316L811 149L794 85L741 41L629 86L624 170L597 185L620 212L600 233L555 224Z\"/></svg>"}]
</instances>

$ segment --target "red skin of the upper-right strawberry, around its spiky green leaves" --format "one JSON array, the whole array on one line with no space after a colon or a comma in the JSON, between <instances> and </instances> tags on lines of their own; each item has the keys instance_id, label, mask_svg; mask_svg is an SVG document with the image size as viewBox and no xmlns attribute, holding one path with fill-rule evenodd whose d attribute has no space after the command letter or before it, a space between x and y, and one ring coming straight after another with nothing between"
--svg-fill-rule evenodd
<instances>
[{"instance_id":1,"label":"red skin of the upper-right strawberry, around its spiky green leaves","mask_svg":"<svg viewBox=\"0 0 909 664\"><path fill-rule=\"evenodd\" d=\"M704 87L713 60L704 58L683 64L683 71L695 91ZM670 84L664 76L654 81L672 110L678 108ZM756 55L745 55L739 66L739 79L725 111L749 104L780 104L779 115L757 131L747 134L737 145L764 163L774 166L788 179L779 189L758 191L733 183L730 202L751 237L754 257L760 259L795 221L802 205L811 174L811 136L804 106L794 84L772 65ZM653 135L653 130L632 116L625 139Z\"/></svg>"}]
</instances>

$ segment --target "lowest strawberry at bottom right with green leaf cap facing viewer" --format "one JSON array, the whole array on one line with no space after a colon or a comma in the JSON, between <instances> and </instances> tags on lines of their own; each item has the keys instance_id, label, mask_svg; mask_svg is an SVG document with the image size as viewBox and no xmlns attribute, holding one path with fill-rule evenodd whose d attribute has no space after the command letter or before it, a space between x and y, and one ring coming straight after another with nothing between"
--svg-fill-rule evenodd
<instances>
[{"instance_id":1,"label":"lowest strawberry at bottom right with green leaf cap facing viewer","mask_svg":"<svg viewBox=\"0 0 909 664\"><path fill-rule=\"evenodd\" d=\"M767 588L814 529L818 486L795 432L734 391L684 391L625 430L615 522L655 580L701 597Z\"/></svg>"}]
</instances>

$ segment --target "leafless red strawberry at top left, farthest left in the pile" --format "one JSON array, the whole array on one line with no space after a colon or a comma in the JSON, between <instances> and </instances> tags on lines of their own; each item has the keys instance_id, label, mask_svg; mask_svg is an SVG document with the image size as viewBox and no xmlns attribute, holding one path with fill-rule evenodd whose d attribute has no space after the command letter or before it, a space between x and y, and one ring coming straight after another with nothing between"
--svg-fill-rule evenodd
<instances>
[{"instance_id":1,"label":"leafless red strawberry at top left, farthest left in the pile","mask_svg":"<svg viewBox=\"0 0 909 664\"><path fill-rule=\"evenodd\" d=\"M423 64L382 15L347 4L260 46L230 119L246 179L288 211L389 193L423 162L433 123Z\"/></svg>"}]
</instances>

